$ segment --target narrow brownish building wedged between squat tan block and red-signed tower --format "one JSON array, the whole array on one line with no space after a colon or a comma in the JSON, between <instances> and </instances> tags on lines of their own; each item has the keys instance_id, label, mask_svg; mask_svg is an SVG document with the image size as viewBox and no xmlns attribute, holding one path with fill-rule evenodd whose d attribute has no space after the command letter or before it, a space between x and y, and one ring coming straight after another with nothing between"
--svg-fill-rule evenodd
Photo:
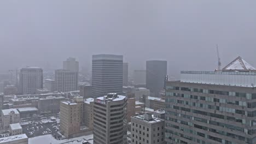
<instances>
[{"instance_id":1,"label":"narrow brownish building wedged between squat tan block and red-signed tower","mask_svg":"<svg viewBox=\"0 0 256 144\"><path fill-rule=\"evenodd\" d=\"M83 105L83 122L86 127L94 128L94 99L88 98L84 100Z\"/></svg>"}]
</instances>

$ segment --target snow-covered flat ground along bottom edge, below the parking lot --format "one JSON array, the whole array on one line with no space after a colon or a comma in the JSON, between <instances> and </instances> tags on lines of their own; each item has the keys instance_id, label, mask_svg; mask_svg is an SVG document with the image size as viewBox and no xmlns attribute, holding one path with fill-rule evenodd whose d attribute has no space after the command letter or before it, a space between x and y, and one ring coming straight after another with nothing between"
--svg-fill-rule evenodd
<instances>
[{"instance_id":1,"label":"snow-covered flat ground along bottom edge, below the parking lot","mask_svg":"<svg viewBox=\"0 0 256 144\"><path fill-rule=\"evenodd\" d=\"M28 144L61 144L61 143L65 143L65 144L79 143L80 144L83 142L83 140L87 140L92 144L93 138L94 138L94 135L86 135L86 136L75 137L69 140L56 140L51 135L42 135L42 136L32 137L28 139Z\"/></svg>"}]
</instances>

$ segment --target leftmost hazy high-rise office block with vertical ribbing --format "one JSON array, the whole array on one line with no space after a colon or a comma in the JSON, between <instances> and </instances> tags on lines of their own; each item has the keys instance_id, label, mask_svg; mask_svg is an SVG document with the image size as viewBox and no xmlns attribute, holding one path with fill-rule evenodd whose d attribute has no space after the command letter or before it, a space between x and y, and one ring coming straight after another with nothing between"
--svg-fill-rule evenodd
<instances>
[{"instance_id":1,"label":"leftmost hazy high-rise office block with vertical ribbing","mask_svg":"<svg viewBox=\"0 0 256 144\"><path fill-rule=\"evenodd\" d=\"M20 70L20 92L35 94L37 89L43 88L43 69L27 67Z\"/></svg>"}]
</instances>

